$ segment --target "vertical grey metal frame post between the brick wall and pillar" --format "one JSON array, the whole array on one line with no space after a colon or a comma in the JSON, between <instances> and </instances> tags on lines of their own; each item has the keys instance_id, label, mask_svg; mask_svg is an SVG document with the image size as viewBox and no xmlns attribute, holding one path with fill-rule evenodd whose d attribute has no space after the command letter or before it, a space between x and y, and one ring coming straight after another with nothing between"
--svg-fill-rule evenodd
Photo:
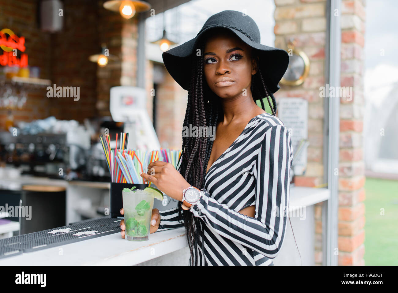
<instances>
[{"instance_id":1,"label":"vertical grey metal frame post between the brick wall and pillar","mask_svg":"<svg viewBox=\"0 0 398 293\"><path fill-rule=\"evenodd\" d=\"M334 16L337 10L338 16ZM341 0L326 1L325 84L340 86ZM329 95L328 95L329 96ZM324 182L328 182L330 198L322 205L322 264L338 265L339 185L334 169L339 166L340 98L324 100ZM338 252L338 250L337 250Z\"/></svg>"}]
</instances>

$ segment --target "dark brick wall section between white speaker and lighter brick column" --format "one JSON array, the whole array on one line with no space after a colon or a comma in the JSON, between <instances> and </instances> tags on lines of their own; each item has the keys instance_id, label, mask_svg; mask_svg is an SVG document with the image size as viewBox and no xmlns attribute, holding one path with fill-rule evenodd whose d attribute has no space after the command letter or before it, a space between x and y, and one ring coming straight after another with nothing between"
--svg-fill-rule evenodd
<instances>
[{"instance_id":1,"label":"dark brick wall section between white speaker and lighter brick column","mask_svg":"<svg viewBox=\"0 0 398 293\"><path fill-rule=\"evenodd\" d=\"M88 57L100 51L98 45L98 15L86 0L64 2L64 27L51 35L50 79L57 86L79 86L79 100L47 98L49 114L57 119L95 117L97 64Z\"/></svg>"}]
</instances>

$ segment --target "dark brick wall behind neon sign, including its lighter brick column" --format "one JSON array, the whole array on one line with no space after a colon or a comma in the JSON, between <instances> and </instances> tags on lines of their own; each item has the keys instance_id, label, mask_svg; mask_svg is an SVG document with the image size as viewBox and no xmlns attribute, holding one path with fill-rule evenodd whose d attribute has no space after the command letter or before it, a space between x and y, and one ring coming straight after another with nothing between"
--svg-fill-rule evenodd
<instances>
[{"instance_id":1,"label":"dark brick wall behind neon sign, including its lighter brick column","mask_svg":"<svg viewBox=\"0 0 398 293\"><path fill-rule=\"evenodd\" d=\"M0 0L0 27L25 36L29 66L39 66L40 78L57 86L79 86L80 100L47 98L45 87L25 87L27 104L14 109L14 124L54 115L57 119L76 119L110 115L109 90L112 86L136 82L138 18L123 19L119 13L105 10L104 1L93 6L91 0L64 2L64 28L50 34L37 24L34 1ZM88 61L106 43L109 54L120 59L104 68ZM0 127L4 128L8 110L0 109Z\"/></svg>"}]
</instances>

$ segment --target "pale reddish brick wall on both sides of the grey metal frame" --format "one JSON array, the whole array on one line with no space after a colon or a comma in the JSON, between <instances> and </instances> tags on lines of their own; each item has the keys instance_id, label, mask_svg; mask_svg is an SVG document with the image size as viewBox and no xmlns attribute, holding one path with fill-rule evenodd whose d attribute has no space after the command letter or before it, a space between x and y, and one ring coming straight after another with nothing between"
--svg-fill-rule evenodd
<instances>
[{"instance_id":1,"label":"pale reddish brick wall on both sides of the grey metal frame","mask_svg":"<svg viewBox=\"0 0 398 293\"><path fill-rule=\"evenodd\" d=\"M296 47L310 59L308 78L300 86L282 86L278 97L302 97L308 101L308 164L303 176L295 176L296 186L315 187L323 180L325 86L325 0L275 0L275 47L287 49L291 37ZM363 265L364 254L364 163L363 129L363 45L364 4L343 0L341 12L341 86L353 87L353 98L340 101L339 153L339 265ZM322 264L322 203L315 205L315 264Z\"/></svg>"}]
</instances>

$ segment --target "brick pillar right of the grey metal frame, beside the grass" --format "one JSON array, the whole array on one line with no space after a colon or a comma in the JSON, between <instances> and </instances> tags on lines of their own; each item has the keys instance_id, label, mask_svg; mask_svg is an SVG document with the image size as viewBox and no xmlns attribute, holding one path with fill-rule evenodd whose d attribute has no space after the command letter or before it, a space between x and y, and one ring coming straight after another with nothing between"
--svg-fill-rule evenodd
<instances>
[{"instance_id":1,"label":"brick pillar right of the grey metal frame, beside the grass","mask_svg":"<svg viewBox=\"0 0 398 293\"><path fill-rule=\"evenodd\" d=\"M365 8L360 0L341 2L339 265L365 265L365 164L363 160L363 46Z\"/></svg>"}]
</instances>

